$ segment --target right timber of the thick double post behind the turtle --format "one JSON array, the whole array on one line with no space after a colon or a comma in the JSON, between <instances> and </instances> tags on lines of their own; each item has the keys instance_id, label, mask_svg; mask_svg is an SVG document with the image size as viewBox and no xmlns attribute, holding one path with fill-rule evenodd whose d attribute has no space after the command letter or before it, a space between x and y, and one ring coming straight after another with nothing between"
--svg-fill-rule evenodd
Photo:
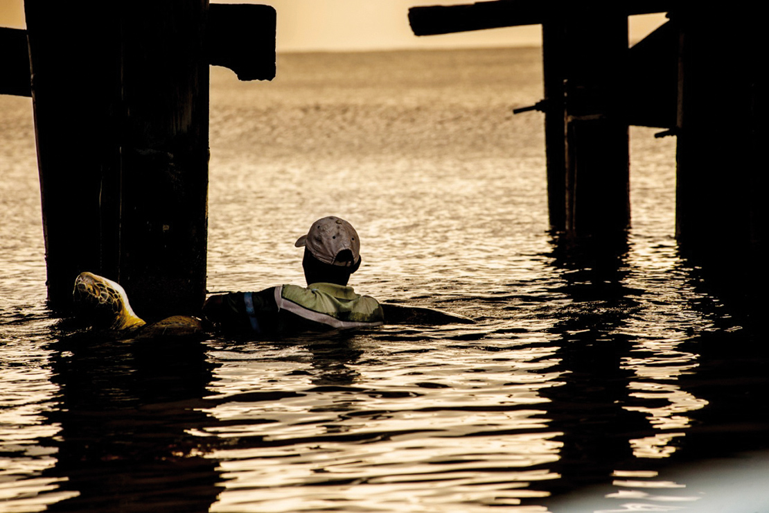
<instances>
[{"instance_id":1,"label":"right timber of the thick double post behind the turtle","mask_svg":"<svg viewBox=\"0 0 769 513\"><path fill-rule=\"evenodd\" d=\"M118 280L150 318L205 298L208 0L122 3Z\"/></svg>"}]
</instances>

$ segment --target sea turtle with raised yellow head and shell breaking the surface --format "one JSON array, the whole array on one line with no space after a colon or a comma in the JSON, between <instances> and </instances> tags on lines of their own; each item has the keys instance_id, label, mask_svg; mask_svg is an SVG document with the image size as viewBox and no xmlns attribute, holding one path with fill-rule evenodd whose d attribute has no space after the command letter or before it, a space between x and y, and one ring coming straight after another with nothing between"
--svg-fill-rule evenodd
<instances>
[{"instance_id":1,"label":"sea turtle with raised yellow head and shell breaking the surface","mask_svg":"<svg viewBox=\"0 0 769 513\"><path fill-rule=\"evenodd\" d=\"M92 272L75 278L72 298L78 318L94 328L115 331L121 338L186 337L203 332L202 321L188 315L172 315L147 324L131 308L122 286Z\"/></svg>"}]
</instances>

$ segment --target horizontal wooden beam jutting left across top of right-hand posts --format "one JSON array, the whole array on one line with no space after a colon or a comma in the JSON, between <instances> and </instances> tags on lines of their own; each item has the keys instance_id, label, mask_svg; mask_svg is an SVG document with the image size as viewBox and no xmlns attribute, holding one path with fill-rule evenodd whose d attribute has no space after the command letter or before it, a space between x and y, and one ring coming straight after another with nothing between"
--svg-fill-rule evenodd
<instances>
[{"instance_id":1,"label":"horizontal wooden beam jutting left across top of right-hand posts","mask_svg":"<svg viewBox=\"0 0 769 513\"><path fill-rule=\"evenodd\" d=\"M467 32L486 28L538 25L554 18L565 18L571 13L597 13L602 6L585 5L590 2L526 2L525 0L496 0L464 5L426 5L408 10L408 21L414 35L438 35L453 32ZM677 0L617 2L624 15L667 12L679 2Z\"/></svg>"}]
</instances>

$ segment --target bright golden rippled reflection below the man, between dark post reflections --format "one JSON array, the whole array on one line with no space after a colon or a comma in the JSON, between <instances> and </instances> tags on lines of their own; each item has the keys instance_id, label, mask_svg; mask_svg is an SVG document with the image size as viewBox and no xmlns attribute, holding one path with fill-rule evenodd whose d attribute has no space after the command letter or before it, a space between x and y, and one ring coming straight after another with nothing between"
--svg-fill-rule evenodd
<instances>
[{"instance_id":1,"label":"bright golden rippled reflection below the man, between dark post reflections","mask_svg":"<svg viewBox=\"0 0 769 513\"><path fill-rule=\"evenodd\" d=\"M436 344L443 350L425 347ZM562 375L552 370L560 361L554 348L485 352L445 344L354 345L357 355L342 362L346 371L337 365L335 375L311 346L286 349L294 361L270 361L281 348L262 352L259 361L248 351L244 361L229 355L209 385L212 398L225 400L208 410L221 424L199 433L239 441L208 455L220 461L225 488L211 511L345 504L376 511L460 511L458 505L547 511L521 500L547 496L536 483L560 477L548 465L560 458L563 433L549 428L547 411L536 408L550 402L538 391L557 386ZM328 383L340 376L354 379ZM295 395L238 400L278 388Z\"/></svg>"}]
</instances>

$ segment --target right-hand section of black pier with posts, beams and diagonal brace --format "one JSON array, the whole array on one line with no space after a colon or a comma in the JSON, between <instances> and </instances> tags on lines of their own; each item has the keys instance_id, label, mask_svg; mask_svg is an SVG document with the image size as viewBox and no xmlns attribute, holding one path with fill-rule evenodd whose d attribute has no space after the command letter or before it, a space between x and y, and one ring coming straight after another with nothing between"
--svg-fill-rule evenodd
<instances>
[{"instance_id":1,"label":"right-hand section of black pier with posts, beams and diagonal brace","mask_svg":"<svg viewBox=\"0 0 769 513\"><path fill-rule=\"evenodd\" d=\"M668 22L628 48L628 16ZM550 224L576 241L631 223L628 126L677 138L681 252L737 295L767 285L767 38L757 6L522 2L411 8L416 35L542 25ZM593 241L594 242L594 241ZM734 287L731 287L734 291Z\"/></svg>"}]
</instances>

